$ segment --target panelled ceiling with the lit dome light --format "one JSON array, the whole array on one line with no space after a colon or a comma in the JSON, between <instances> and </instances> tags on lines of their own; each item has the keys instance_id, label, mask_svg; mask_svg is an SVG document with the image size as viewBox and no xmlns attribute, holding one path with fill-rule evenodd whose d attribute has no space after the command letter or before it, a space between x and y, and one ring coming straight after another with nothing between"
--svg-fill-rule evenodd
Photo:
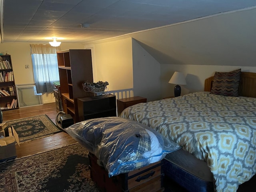
<instances>
[{"instance_id":1,"label":"panelled ceiling with the lit dome light","mask_svg":"<svg viewBox=\"0 0 256 192\"><path fill-rule=\"evenodd\" d=\"M256 0L0 0L0 6L2 42L85 43L256 6Z\"/></svg>"}]
</instances>

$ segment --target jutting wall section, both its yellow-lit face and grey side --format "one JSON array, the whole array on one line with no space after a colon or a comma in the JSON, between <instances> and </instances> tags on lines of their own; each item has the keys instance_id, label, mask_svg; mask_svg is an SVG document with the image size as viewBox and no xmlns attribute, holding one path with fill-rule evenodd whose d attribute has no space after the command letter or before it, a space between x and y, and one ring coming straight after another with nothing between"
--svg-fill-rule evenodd
<instances>
[{"instance_id":1,"label":"jutting wall section, both its yellow-lit face and grey side","mask_svg":"<svg viewBox=\"0 0 256 192\"><path fill-rule=\"evenodd\" d=\"M94 82L108 81L108 90L133 88L134 96L159 98L160 64L132 38L86 44L92 49Z\"/></svg>"}]
</instances>

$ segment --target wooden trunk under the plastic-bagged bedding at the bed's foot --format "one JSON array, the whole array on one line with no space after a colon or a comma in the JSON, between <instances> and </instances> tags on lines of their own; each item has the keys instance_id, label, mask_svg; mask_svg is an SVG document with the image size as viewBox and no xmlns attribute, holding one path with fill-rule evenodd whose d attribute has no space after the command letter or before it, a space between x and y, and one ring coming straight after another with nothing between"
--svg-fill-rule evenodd
<instances>
[{"instance_id":1,"label":"wooden trunk under the plastic-bagged bedding at the bed's foot","mask_svg":"<svg viewBox=\"0 0 256 192\"><path fill-rule=\"evenodd\" d=\"M161 161L109 178L104 167L98 165L97 157L89 153L89 158L91 178L104 192L164 191Z\"/></svg>"}]
</instances>

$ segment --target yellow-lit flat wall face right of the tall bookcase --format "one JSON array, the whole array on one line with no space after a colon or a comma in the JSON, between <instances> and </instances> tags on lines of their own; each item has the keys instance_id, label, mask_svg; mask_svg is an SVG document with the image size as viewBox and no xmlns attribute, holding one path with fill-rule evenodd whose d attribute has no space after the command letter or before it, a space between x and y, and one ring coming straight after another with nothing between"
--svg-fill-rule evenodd
<instances>
[{"instance_id":1,"label":"yellow-lit flat wall face right of the tall bookcase","mask_svg":"<svg viewBox=\"0 0 256 192\"><path fill-rule=\"evenodd\" d=\"M133 88L132 40L94 44L94 82L107 81L109 90Z\"/></svg>"}]
</instances>

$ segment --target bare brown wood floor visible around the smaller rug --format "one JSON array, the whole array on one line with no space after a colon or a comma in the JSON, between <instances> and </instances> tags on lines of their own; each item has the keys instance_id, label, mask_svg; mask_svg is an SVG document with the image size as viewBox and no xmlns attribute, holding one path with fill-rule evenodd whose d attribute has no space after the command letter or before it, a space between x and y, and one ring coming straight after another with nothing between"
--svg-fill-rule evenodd
<instances>
[{"instance_id":1,"label":"bare brown wood floor visible around the smaller rug","mask_svg":"<svg viewBox=\"0 0 256 192\"><path fill-rule=\"evenodd\" d=\"M46 114L55 123L57 113L55 103L48 103L38 106L3 111L3 122ZM54 148L60 148L75 142L76 141L66 132L59 132L45 138L22 143L20 146L16 145L17 158Z\"/></svg>"}]
</instances>

